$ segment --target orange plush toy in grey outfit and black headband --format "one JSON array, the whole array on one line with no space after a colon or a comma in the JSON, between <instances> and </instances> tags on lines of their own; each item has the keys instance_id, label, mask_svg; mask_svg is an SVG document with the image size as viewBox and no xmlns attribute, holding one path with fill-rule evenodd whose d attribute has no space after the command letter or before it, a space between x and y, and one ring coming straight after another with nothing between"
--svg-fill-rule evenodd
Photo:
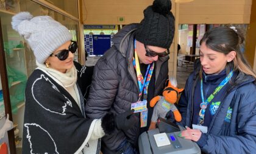
<instances>
[{"instance_id":1,"label":"orange plush toy in grey outfit and black headband","mask_svg":"<svg viewBox=\"0 0 256 154\"><path fill-rule=\"evenodd\" d=\"M174 105L182 91L183 89L177 88L177 81L172 77L169 79L168 86L163 89L163 96L155 96L150 101L150 106L154 107L154 111L152 114L149 130L155 129L155 124L157 124L158 117L165 118L166 113L168 113L170 110L174 113L174 118L177 122L182 120L180 112Z\"/></svg>"}]
</instances>

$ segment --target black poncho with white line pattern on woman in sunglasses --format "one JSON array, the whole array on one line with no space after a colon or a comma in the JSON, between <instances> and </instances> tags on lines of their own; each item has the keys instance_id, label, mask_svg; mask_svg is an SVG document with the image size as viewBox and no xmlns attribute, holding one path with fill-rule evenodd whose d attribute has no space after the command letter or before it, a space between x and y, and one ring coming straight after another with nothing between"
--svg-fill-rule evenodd
<instances>
[{"instance_id":1,"label":"black poncho with white line pattern on woman in sunglasses","mask_svg":"<svg viewBox=\"0 0 256 154\"><path fill-rule=\"evenodd\" d=\"M82 69L77 69L76 84L87 88L91 79L81 79ZM85 91L79 91L80 100ZM30 75L25 96L23 153L79 153L84 149L95 122L85 118L84 105L81 112L68 91L40 69Z\"/></svg>"}]
</instances>

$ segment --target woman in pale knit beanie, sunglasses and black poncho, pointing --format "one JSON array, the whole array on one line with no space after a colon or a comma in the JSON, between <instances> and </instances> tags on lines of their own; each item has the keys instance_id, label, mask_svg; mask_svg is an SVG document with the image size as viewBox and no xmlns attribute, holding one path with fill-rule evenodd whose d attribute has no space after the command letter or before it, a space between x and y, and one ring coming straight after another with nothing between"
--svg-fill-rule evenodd
<instances>
[{"instance_id":1,"label":"woman in pale knit beanie, sunglasses and black poncho, pointing","mask_svg":"<svg viewBox=\"0 0 256 154\"><path fill-rule=\"evenodd\" d=\"M73 61L77 43L65 26L50 16L21 12L13 16L12 27L25 38L38 65L25 91L23 153L99 153L99 138L115 127L133 125L133 111L85 117L91 70Z\"/></svg>"}]
</instances>

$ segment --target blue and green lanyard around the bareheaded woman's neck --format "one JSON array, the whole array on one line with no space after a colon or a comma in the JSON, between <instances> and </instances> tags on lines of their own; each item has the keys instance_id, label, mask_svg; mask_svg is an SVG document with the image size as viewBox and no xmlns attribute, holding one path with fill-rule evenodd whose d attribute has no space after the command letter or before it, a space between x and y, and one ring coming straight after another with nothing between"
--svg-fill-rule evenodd
<instances>
[{"instance_id":1,"label":"blue and green lanyard around the bareheaded woman's neck","mask_svg":"<svg viewBox=\"0 0 256 154\"><path fill-rule=\"evenodd\" d=\"M202 103L200 103L200 112L199 112L199 125L204 124L204 115L205 115L205 109L207 108L208 103L210 103L213 98L216 96L216 94L218 94L218 92L222 89L222 87L224 85L227 84L227 82L229 82L230 78L233 76L233 71L231 71L229 73L229 75L227 75L227 77L222 80L221 83L219 83L219 85L217 86L217 88L213 91L212 94L210 94L210 96L208 97L208 99L204 100L204 91L203 91L203 85L202 85L202 79L201 79L201 98L202 98Z\"/></svg>"}]
</instances>

